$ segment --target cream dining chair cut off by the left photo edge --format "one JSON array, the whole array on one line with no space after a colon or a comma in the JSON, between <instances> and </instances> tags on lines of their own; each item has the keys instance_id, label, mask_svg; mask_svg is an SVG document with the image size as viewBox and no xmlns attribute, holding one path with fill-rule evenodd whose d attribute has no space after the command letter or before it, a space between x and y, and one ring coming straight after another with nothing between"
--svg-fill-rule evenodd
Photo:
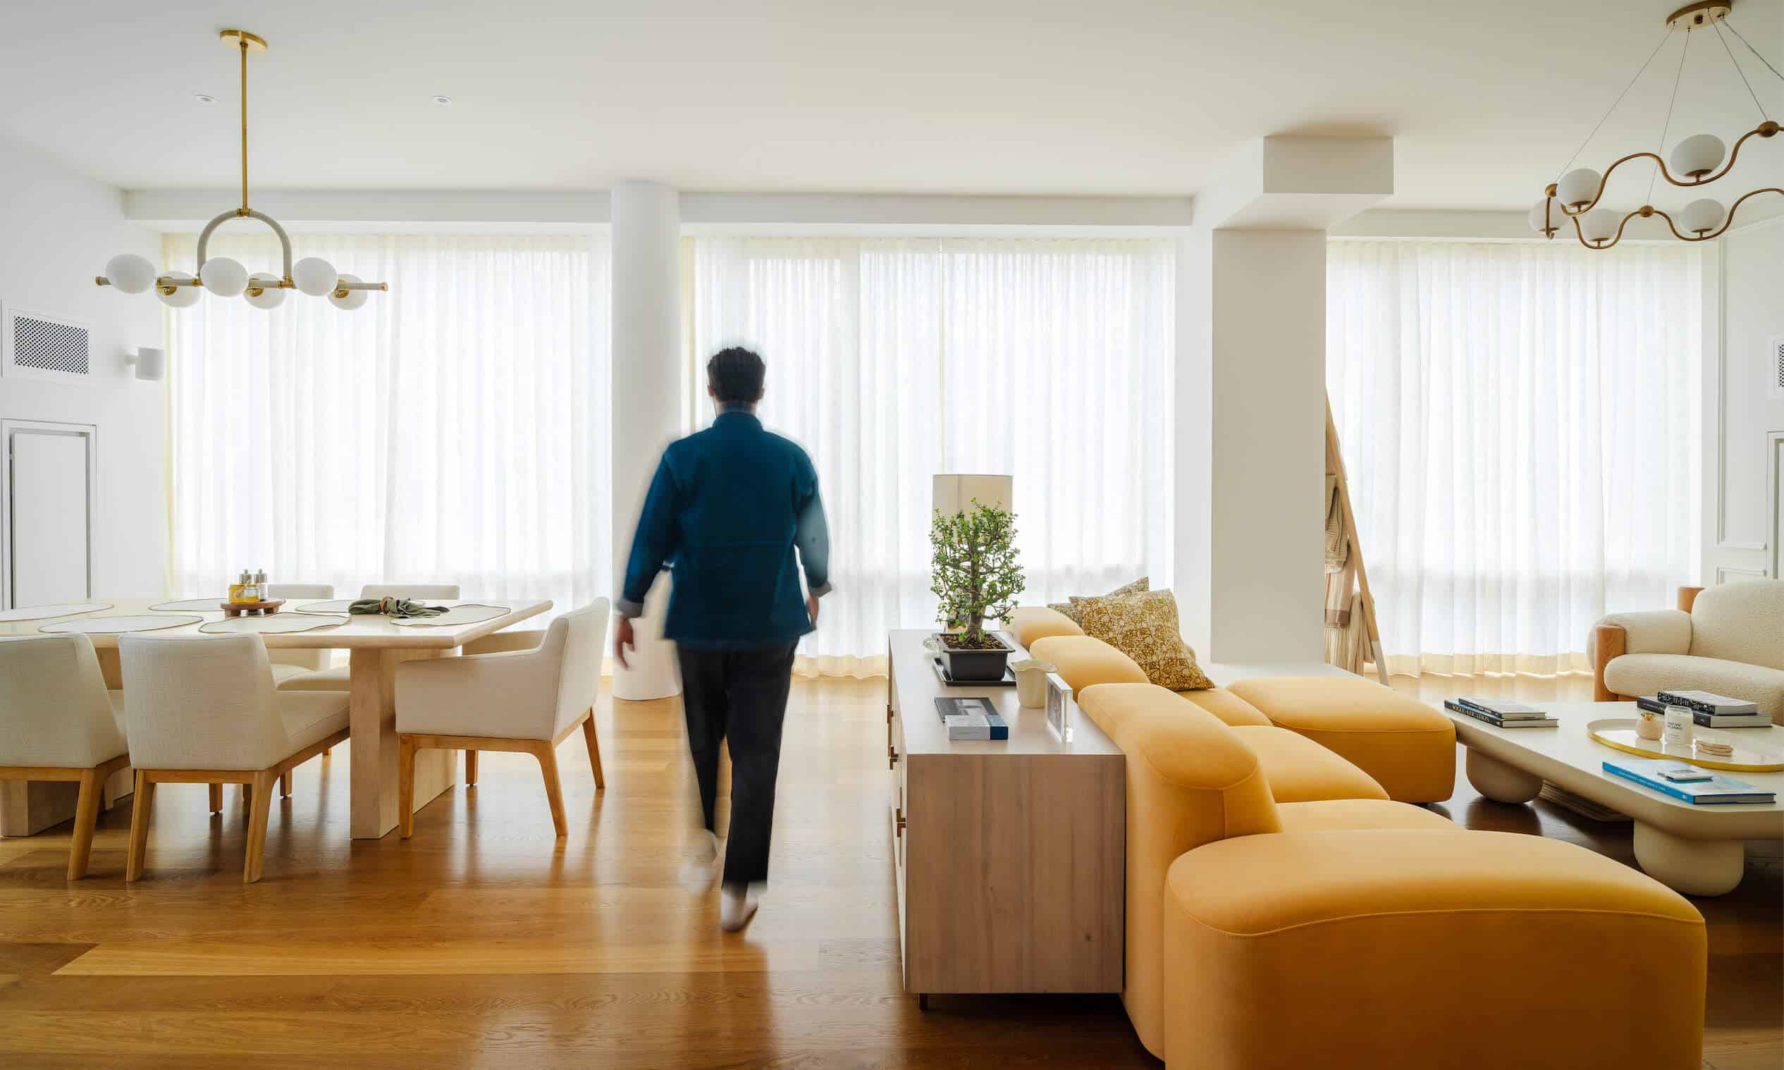
<instances>
[{"instance_id":1,"label":"cream dining chair cut off by the left photo edge","mask_svg":"<svg viewBox=\"0 0 1784 1070\"><path fill-rule=\"evenodd\" d=\"M87 872L105 778L130 763L123 692L86 635L0 638L0 779L78 781L68 879Z\"/></svg>"}]
</instances>

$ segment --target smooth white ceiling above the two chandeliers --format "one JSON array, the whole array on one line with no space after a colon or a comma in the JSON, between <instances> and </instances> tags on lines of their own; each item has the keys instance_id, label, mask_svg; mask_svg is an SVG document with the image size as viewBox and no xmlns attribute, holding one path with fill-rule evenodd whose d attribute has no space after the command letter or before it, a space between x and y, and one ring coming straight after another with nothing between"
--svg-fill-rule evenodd
<instances>
[{"instance_id":1,"label":"smooth white ceiling above the two chandeliers","mask_svg":"<svg viewBox=\"0 0 1784 1070\"><path fill-rule=\"evenodd\" d=\"M127 189L1192 194L1263 134L1392 134L1399 209L1525 207L1682 0L16 4L0 134ZM1784 68L1784 0L1736 0ZM1732 41L1773 118L1784 84ZM1582 162L1659 137L1677 43ZM193 93L212 93L200 105ZM434 93L451 107L428 102ZM1668 144L1759 112L1697 34ZM1747 175L1784 175L1784 137ZM1763 159L1761 159L1763 157ZM1627 171L1638 171L1629 166ZM1641 203L1647 175L1620 202ZM1682 194L1659 196L1672 205Z\"/></svg>"}]
</instances>

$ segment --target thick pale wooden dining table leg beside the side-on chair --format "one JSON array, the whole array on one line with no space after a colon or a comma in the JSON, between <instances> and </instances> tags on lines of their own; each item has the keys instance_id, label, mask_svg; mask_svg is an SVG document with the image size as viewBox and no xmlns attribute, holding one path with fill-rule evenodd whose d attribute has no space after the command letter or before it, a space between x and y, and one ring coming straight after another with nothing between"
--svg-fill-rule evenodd
<instances>
[{"instance_id":1,"label":"thick pale wooden dining table leg beside the side-on chair","mask_svg":"<svg viewBox=\"0 0 1784 1070\"><path fill-rule=\"evenodd\" d=\"M396 665L439 658L446 651L355 649L348 660L348 724L353 756L355 840L376 840L396 827ZM416 810L458 783L453 751L416 754Z\"/></svg>"}]
</instances>

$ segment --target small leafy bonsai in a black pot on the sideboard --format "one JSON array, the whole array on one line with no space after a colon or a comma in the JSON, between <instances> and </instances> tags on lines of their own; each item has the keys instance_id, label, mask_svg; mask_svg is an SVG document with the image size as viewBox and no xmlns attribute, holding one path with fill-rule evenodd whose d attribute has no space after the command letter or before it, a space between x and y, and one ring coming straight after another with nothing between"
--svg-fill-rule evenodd
<instances>
[{"instance_id":1,"label":"small leafy bonsai in a black pot on the sideboard","mask_svg":"<svg viewBox=\"0 0 1784 1070\"><path fill-rule=\"evenodd\" d=\"M985 619L1004 617L1022 594L1022 565L1015 549L1015 514L981 505L929 524L929 565L942 619L956 633L937 637L947 674L954 679L1003 679L1010 647L985 633Z\"/></svg>"}]
</instances>

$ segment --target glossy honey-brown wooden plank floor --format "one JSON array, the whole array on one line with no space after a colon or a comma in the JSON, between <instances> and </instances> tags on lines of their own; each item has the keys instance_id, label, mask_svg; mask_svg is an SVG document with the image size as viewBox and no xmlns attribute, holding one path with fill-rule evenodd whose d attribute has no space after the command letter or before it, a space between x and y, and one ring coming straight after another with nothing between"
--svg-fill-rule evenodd
<instances>
[{"instance_id":1,"label":"glossy honey-brown wooden plank floor","mask_svg":"<svg viewBox=\"0 0 1784 1070\"><path fill-rule=\"evenodd\" d=\"M1582 697L1586 681L1399 679ZM148 876L123 885L128 806L93 876L64 881L68 827L0 840L4 1066L1158 1066L1115 997L899 992L885 815L885 681L797 683L769 897L721 936L715 895L678 885L696 806L671 703L598 708L608 788L564 744L569 838L539 767L482 756L482 781L416 815L416 836L348 838L348 754L303 765L273 808L266 877L241 883L246 815L162 786ZM1631 861L1629 826L1502 806L1458 778L1470 827ZM1777 845L1709 918L1706 1066L1784 1065ZM1606 1008L1620 1020L1632 1008Z\"/></svg>"}]
</instances>

